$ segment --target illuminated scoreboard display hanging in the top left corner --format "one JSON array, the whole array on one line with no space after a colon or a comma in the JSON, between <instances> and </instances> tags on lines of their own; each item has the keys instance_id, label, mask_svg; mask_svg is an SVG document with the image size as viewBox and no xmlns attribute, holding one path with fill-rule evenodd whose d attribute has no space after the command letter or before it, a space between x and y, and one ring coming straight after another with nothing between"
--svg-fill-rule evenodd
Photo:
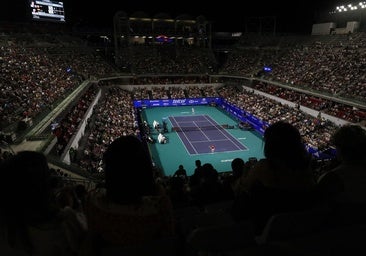
<instances>
[{"instance_id":1,"label":"illuminated scoreboard display hanging in the top left corner","mask_svg":"<svg viewBox=\"0 0 366 256\"><path fill-rule=\"evenodd\" d=\"M31 0L29 1L33 20L65 22L63 1Z\"/></svg>"}]
</instances>

